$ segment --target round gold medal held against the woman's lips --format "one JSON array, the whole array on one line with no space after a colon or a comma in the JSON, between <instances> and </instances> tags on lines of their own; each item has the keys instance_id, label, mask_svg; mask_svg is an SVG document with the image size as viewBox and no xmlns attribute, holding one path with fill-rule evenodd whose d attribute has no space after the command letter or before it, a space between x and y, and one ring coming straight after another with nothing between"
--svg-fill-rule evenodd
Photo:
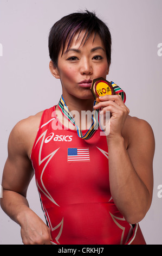
<instances>
[{"instance_id":1,"label":"round gold medal held against the woman's lips","mask_svg":"<svg viewBox=\"0 0 162 256\"><path fill-rule=\"evenodd\" d=\"M97 79L94 79L92 81L92 85L90 87L90 90L94 96L94 99L96 101L100 101L99 97L100 96L105 96L105 95L114 95L114 89L112 87L112 83L108 82L104 78L100 77Z\"/></svg>"}]
</instances>

